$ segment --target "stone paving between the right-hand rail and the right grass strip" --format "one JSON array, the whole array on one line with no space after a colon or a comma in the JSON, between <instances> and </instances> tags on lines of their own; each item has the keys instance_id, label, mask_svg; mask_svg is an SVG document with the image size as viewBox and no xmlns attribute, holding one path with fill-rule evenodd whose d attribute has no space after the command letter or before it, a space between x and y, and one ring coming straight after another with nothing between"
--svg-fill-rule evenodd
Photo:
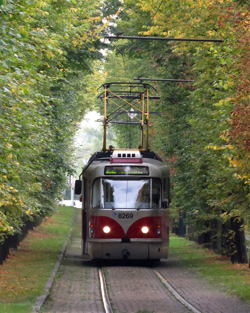
<instances>
[{"instance_id":1,"label":"stone paving between the right-hand rail and the right grass strip","mask_svg":"<svg viewBox=\"0 0 250 313\"><path fill-rule=\"evenodd\" d=\"M190 304L202 313L248 313L241 299L214 289L206 280L179 265L178 260L163 260L155 269Z\"/></svg>"}]
</instances>

